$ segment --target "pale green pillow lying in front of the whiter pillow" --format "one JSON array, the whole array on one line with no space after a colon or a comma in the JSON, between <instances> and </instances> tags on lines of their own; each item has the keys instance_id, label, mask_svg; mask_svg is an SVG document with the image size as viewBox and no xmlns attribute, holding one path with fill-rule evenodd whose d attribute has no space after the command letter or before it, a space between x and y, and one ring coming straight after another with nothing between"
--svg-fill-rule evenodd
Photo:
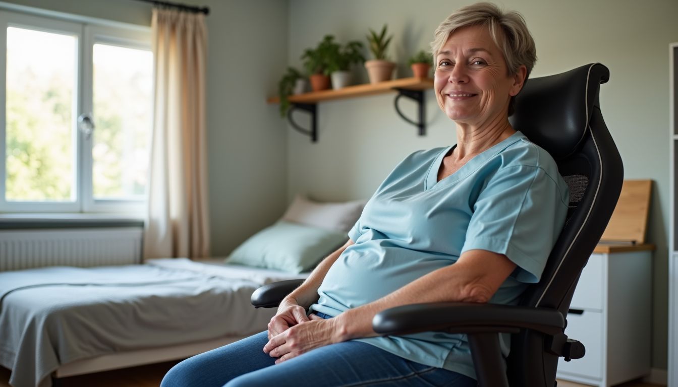
<instances>
[{"instance_id":1,"label":"pale green pillow lying in front of the whiter pillow","mask_svg":"<svg viewBox=\"0 0 678 387\"><path fill-rule=\"evenodd\" d=\"M226 263L299 273L311 270L347 240L344 232L279 220L239 245Z\"/></svg>"}]
</instances>

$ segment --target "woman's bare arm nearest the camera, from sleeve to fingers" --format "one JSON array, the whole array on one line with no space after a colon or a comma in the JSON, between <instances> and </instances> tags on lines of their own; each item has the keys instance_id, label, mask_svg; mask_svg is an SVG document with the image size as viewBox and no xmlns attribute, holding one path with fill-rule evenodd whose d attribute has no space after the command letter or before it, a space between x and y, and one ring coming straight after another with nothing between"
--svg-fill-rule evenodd
<instances>
[{"instance_id":1,"label":"woman's bare arm nearest the camera, from sleeve to fingers","mask_svg":"<svg viewBox=\"0 0 678 387\"><path fill-rule=\"evenodd\" d=\"M264 352L279 357L278 363L319 346L376 336L372 318L395 306L424 302L487 302L515 267L516 264L503 254L487 250L466 251L456 263L430 272L374 302L346 310L334 319L311 315L308 323L270 338Z\"/></svg>"}]
</instances>

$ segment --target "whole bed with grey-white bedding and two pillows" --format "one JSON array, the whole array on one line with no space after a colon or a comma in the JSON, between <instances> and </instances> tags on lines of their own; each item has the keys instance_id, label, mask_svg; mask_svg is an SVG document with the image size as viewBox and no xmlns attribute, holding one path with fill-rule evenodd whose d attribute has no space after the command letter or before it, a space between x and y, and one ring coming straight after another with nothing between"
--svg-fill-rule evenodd
<instances>
[{"instance_id":1,"label":"whole bed with grey-white bedding and two pillows","mask_svg":"<svg viewBox=\"0 0 678 387\"><path fill-rule=\"evenodd\" d=\"M224 259L0 272L0 365L15 387L183 359L266 329L261 285L300 279L346 241L364 202L297 197Z\"/></svg>"}]
</instances>

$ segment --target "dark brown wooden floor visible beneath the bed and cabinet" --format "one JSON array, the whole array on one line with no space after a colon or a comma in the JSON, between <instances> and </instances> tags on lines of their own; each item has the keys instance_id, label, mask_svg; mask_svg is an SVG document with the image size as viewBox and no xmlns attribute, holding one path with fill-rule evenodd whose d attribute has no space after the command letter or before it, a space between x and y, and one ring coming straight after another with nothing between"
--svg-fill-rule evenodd
<instances>
[{"instance_id":1,"label":"dark brown wooden floor visible beneath the bed and cabinet","mask_svg":"<svg viewBox=\"0 0 678 387\"><path fill-rule=\"evenodd\" d=\"M71 376L62 379L63 387L157 387L163 379L163 375L172 368L176 362L144 365L142 367L117 369L90 373L89 375ZM0 367L0 387L9 386L9 370ZM584 384L558 381L558 387L586 387ZM629 382L619 384L618 387L658 387L657 384L641 382Z\"/></svg>"}]
</instances>

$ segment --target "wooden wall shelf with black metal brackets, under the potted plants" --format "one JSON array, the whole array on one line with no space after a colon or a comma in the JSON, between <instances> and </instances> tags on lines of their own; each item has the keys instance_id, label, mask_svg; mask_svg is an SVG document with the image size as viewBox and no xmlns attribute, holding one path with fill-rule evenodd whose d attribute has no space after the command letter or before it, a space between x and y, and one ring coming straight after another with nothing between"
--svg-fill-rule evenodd
<instances>
[{"instance_id":1,"label":"wooden wall shelf with black metal brackets, under the potted plants","mask_svg":"<svg viewBox=\"0 0 678 387\"><path fill-rule=\"evenodd\" d=\"M401 78L393 81L384 81L380 83L368 83L363 85L347 86L342 89L330 89L323 91L313 91L311 93L297 94L290 96L290 104L292 107L287 112L287 120L294 129L311 137L311 142L317 141L317 127L316 115L318 102L325 102L331 100L343 100L347 98L358 98L363 96L374 96L377 94L386 94L396 92L398 95L395 98L395 110L400 117L405 121L415 125L419 129L419 135L423 136L426 131L426 123L424 121L424 90L433 88L433 79L431 78ZM401 97L407 97L418 104L418 119L419 121L412 121L401 113L398 108L398 100ZM277 104L280 102L278 97L268 98L266 100L269 104ZM311 128L304 129L297 125L292 120L292 110L304 110L311 115Z\"/></svg>"}]
</instances>

